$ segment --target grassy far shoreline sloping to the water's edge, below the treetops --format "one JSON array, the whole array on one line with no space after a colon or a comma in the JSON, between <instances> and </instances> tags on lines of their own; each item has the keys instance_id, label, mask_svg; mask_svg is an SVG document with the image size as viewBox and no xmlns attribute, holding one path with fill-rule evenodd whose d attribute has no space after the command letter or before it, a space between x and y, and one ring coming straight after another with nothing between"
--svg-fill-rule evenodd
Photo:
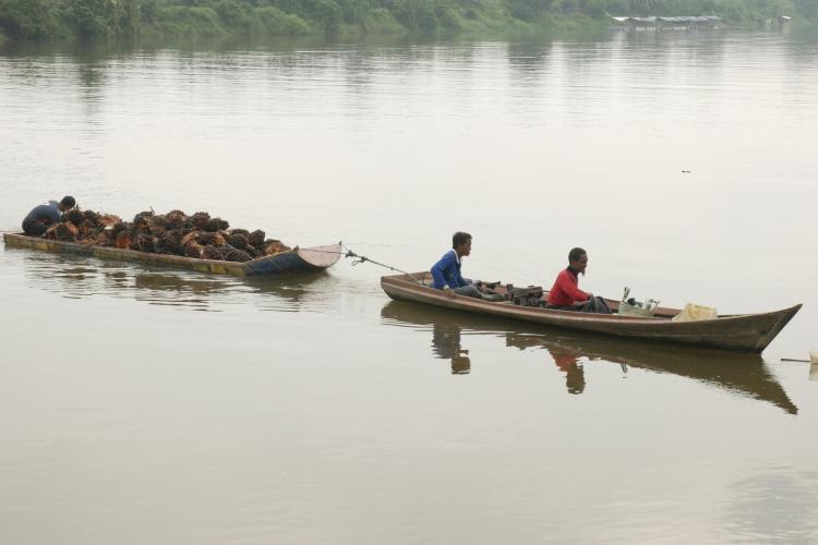
<instances>
[{"instance_id":1,"label":"grassy far shoreline sloping to the water's edge, below the treetops","mask_svg":"<svg viewBox=\"0 0 818 545\"><path fill-rule=\"evenodd\" d=\"M818 14L813 16L810 13L793 13L792 17L782 17L769 7L739 14L719 10L717 7L707 14L720 17L715 27L693 25L687 28L662 28L642 24L623 27L615 21L614 15L617 14L606 10L588 12L575 8L560 11L543 7L522 10L518 2L509 0L468 5L435 0L422 5L378 7L381 4L375 2L353 12L341 9L334 0L320 2L322 5L334 7L328 11L297 2L287 12L272 3L260 5L246 0L202 0L196 5L163 1L142 4L140 0L135 0L129 4L132 5L129 10L123 8L124 4L117 4L118 8L107 8L105 13L98 13L89 21L82 20L71 10L58 8L58 4L52 4L49 10L26 11L26 1L28 0L9 0L2 5L0 47L13 44L151 46L214 40L294 39L321 43L409 43L454 38L506 39L509 36L599 36L610 32L818 29ZM38 1L50 4L50 0ZM659 13L652 15L663 16Z\"/></svg>"}]
</instances>

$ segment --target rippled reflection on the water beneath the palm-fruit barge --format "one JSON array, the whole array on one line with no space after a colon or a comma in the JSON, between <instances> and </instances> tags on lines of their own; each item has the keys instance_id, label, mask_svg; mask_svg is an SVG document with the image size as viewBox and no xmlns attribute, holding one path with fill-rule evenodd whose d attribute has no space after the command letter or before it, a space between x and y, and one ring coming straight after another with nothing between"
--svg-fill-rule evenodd
<instances>
[{"instance_id":1,"label":"rippled reflection on the water beneath the palm-fruit barge","mask_svg":"<svg viewBox=\"0 0 818 545\"><path fill-rule=\"evenodd\" d=\"M22 256L28 287L70 299L108 295L209 312L240 305L317 312L326 310L339 291L339 280L326 272L238 278L16 249L5 252Z\"/></svg>"}]
</instances>

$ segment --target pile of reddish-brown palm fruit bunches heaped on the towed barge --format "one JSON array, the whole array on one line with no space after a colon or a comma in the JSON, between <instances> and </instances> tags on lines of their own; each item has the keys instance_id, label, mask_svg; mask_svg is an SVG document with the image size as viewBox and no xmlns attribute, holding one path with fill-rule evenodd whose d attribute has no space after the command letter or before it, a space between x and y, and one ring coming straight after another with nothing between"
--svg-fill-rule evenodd
<instances>
[{"instance_id":1,"label":"pile of reddish-brown palm fruit bunches heaped on the towed barge","mask_svg":"<svg viewBox=\"0 0 818 545\"><path fill-rule=\"evenodd\" d=\"M206 211L192 216L181 210L167 214L141 211L133 221L122 221L112 214L74 208L62 215L61 222L46 231L46 238L224 262L249 262L290 250L281 241L265 239L260 229L250 232L229 227L227 221L212 218Z\"/></svg>"}]
</instances>

